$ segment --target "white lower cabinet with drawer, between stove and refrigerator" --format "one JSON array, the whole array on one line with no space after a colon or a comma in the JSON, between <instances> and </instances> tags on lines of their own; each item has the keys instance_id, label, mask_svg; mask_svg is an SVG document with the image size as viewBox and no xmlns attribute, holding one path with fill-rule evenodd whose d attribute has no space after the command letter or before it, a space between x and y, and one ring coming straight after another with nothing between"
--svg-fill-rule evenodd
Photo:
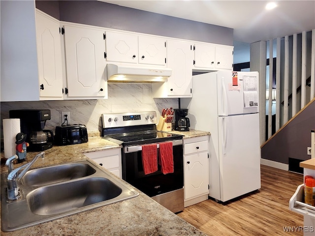
<instances>
[{"instance_id":1,"label":"white lower cabinet with drawer, between stove and refrigerator","mask_svg":"<svg viewBox=\"0 0 315 236\"><path fill-rule=\"evenodd\" d=\"M185 207L208 199L208 163L208 136L184 139Z\"/></svg>"}]
</instances>

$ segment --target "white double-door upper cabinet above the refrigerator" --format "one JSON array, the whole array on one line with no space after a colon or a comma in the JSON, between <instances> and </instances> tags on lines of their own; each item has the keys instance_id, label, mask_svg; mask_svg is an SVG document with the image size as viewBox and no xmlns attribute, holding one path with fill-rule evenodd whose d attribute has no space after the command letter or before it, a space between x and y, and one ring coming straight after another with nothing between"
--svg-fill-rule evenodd
<instances>
[{"instance_id":1,"label":"white double-door upper cabinet above the refrigerator","mask_svg":"<svg viewBox=\"0 0 315 236\"><path fill-rule=\"evenodd\" d=\"M194 68L232 70L233 47L209 43L195 43Z\"/></svg>"}]
</instances>

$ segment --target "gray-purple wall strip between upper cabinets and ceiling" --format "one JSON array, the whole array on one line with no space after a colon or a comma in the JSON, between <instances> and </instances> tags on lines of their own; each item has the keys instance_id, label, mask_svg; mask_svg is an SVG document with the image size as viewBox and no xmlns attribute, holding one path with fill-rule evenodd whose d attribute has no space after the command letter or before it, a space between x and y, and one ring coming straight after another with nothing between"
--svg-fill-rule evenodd
<instances>
[{"instance_id":1,"label":"gray-purple wall strip between upper cabinets and ceiling","mask_svg":"<svg viewBox=\"0 0 315 236\"><path fill-rule=\"evenodd\" d=\"M36 1L36 8L61 21L233 46L231 28L101 1Z\"/></svg>"}]
</instances>

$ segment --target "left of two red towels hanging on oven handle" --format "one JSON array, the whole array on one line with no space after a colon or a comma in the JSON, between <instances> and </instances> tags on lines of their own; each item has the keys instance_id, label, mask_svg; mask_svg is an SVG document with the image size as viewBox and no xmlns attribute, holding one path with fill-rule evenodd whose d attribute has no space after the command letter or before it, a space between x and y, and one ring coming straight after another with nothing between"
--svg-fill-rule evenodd
<instances>
[{"instance_id":1,"label":"left of two red towels hanging on oven handle","mask_svg":"<svg viewBox=\"0 0 315 236\"><path fill-rule=\"evenodd\" d=\"M142 146L142 166L145 175L158 171L158 147L156 144Z\"/></svg>"}]
</instances>

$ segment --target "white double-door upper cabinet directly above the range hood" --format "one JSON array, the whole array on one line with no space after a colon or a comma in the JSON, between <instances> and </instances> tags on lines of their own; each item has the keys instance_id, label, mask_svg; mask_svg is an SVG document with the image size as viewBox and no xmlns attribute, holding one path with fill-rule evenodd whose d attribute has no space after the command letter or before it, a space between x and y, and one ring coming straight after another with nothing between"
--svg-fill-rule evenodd
<instances>
[{"instance_id":1,"label":"white double-door upper cabinet directly above the range hood","mask_svg":"<svg viewBox=\"0 0 315 236\"><path fill-rule=\"evenodd\" d=\"M166 41L163 38L106 31L107 62L165 65Z\"/></svg>"}]
</instances>

